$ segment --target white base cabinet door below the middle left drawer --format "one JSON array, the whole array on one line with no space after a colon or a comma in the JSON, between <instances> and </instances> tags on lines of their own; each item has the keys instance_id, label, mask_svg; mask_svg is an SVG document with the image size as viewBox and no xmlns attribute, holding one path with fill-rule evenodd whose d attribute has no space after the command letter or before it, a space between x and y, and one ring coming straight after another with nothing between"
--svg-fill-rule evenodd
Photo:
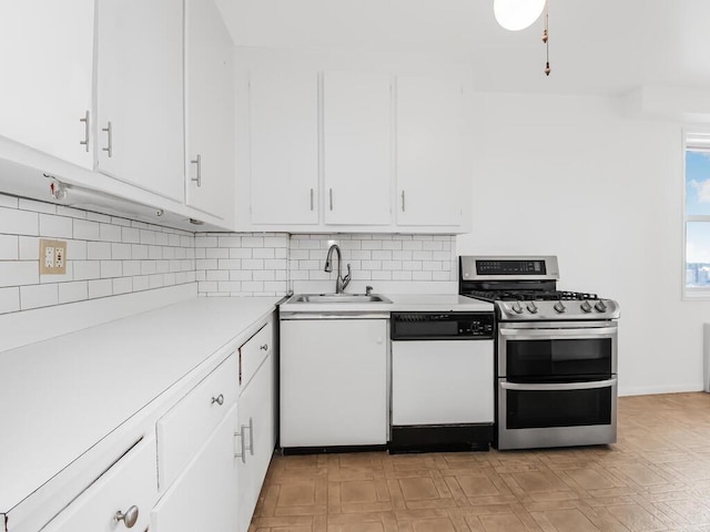
<instances>
[{"instance_id":1,"label":"white base cabinet door below the middle left drawer","mask_svg":"<svg viewBox=\"0 0 710 532\"><path fill-rule=\"evenodd\" d=\"M234 532L236 405L151 512L152 532Z\"/></svg>"}]
</instances>

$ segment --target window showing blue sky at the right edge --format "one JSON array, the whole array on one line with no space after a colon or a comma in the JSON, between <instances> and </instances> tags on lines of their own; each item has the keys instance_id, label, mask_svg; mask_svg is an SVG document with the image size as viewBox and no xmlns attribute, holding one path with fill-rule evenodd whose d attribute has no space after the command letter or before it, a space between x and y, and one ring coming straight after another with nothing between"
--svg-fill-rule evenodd
<instances>
[{"instance_id":1,"label":"window showing blue sky at the right edge","mask_svg":"<svg viewBox=\"0 0 710 532\"><path fill-rule=\"evenodd\" d=\"M686 134L684 295L710 297L710 134Z\"/></svg>"}]
</instances>

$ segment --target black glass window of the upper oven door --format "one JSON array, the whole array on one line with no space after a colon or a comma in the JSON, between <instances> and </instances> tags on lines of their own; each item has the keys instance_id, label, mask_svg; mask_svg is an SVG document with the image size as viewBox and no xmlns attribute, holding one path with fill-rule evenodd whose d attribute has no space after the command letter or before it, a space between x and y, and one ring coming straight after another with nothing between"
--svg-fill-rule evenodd
<instances>
[{"instance_id":1,"label":"black glass window of the upper oven door","mask_svg":"<svg viewBox=\"0 0 710 532\"><path fill-rule=\"evenodd\" d=\"M555 382L575 376L611 375L611 338L508 340L507 377Z\"/></svg>"}]
</instances>

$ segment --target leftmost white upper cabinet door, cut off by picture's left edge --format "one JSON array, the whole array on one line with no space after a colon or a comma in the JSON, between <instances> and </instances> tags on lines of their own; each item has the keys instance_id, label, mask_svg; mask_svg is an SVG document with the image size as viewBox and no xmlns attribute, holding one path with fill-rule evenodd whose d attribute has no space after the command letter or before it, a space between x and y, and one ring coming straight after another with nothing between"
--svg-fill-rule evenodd
<instances>
[{"instance_id":1,"label":"leftmost white upper cabinet door, cut off by picture's left edge","mask_svg":"<svg viewBox=\"0 0 710 532\"><path fill-rule=\"evenodd\" d=\"M94 0L0 7L0 135L90 170L93 16Z\"/></svg>"}]
</instances>

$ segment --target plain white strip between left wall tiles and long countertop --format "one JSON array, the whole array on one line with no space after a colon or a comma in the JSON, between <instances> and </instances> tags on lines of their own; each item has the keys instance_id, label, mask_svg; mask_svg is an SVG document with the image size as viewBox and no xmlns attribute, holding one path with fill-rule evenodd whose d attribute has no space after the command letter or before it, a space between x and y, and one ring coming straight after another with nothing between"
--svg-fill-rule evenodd
<instances>
[{"instance_id":1,"label":"plain white strip between left wall tiles and long countertop","mask_svg":"<svg viewBox=\"0 0 710 532\"><path fill-rule=\"evenodd\" d=\"M0 316L0 352L197 297L197 283Z\"/></svg>"}]
</instances>

